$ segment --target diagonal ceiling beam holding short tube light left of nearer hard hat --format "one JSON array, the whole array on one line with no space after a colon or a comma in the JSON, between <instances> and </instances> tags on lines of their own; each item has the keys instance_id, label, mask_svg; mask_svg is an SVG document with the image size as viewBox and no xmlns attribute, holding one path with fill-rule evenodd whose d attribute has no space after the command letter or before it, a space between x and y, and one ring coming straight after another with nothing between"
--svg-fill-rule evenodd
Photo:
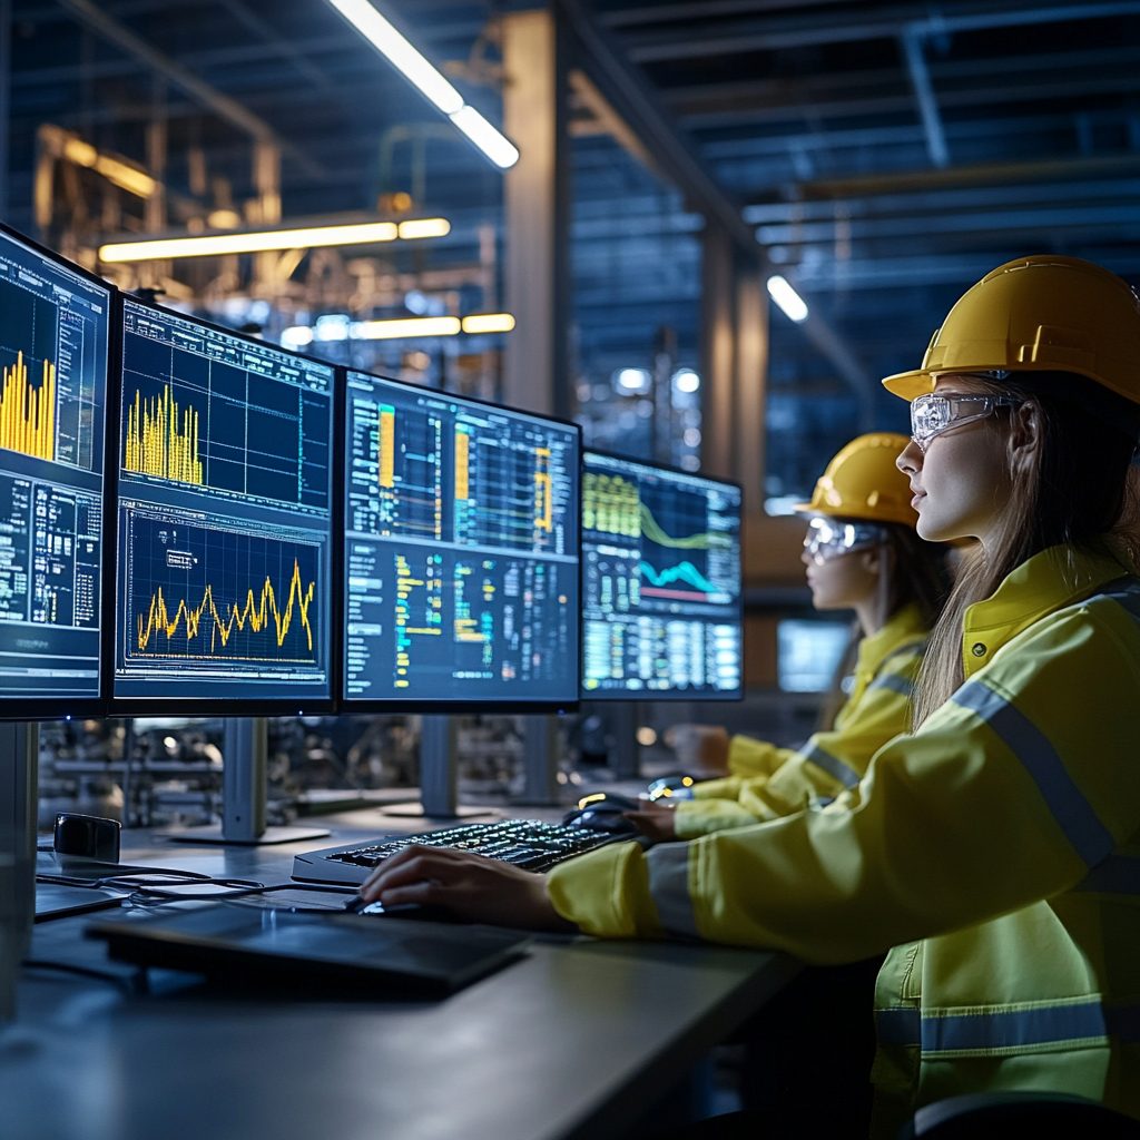
<instances>
[{"instance_id":1,"label":"diagonal ceiling beam holding short tube light left of nearer hard hat","mask_svg":"<svg viewBox=\"0 0 1140 1140\"><path fill-rule=\"evenodd\" d=\"M619 113L637 132L650 154L706 218L719 226L746 256L758 262L762 274L768 276L772 270L767 255L757 244L751 228L744 225L736 205L709 178L690 145L666 119L644 78L620 58L581 0L556 2L598 70L592 78L609 88L605 93L613 97ZM840 336L814 309L800 328L865 404L871 398L872 381Z\"/></svg>"}]
</instances>

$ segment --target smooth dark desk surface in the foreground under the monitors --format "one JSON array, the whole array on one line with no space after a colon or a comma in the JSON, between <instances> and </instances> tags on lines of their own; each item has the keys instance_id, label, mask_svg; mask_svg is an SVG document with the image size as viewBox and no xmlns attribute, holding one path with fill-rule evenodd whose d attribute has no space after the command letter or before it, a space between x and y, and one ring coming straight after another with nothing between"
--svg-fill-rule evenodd
<instances>
[{"instance_id":1,"label":"smooth dark desk surface in the foreground under the monitors","mask_svg":"<svg viewBox=\"0 0 1140 1140\"><path fill-rule=\"evenodd\" d=\"M128 837L123 862L283 882L299 850L410 830L375 812L329 822L332 839L278 848ZM32 956L129 977L82 938L88 921L39 925ZM162 977L130 996L28 969L19 1018L0 1029L0 1119L6 1140L604 1140L796 969L777 954L552 937L418 1003L163 991Z\"/></svg>"}]
</instances>

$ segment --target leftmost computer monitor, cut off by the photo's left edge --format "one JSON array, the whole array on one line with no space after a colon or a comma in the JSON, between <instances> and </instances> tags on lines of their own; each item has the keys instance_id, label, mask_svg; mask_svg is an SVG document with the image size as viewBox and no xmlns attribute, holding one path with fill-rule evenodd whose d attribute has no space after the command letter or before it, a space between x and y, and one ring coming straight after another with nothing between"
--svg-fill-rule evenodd
<instances>
[{"instance_id":1,"label":"leftmost computer monitor, cut off by the photo's left edge","mask_svg":"<svg viewBox=\"0 0 1140 1140\"><path fill-rule=\"evenodd\" d=\"M103 711L113 294L0 228L0 717Z\"/></svg>"}]
</instances>

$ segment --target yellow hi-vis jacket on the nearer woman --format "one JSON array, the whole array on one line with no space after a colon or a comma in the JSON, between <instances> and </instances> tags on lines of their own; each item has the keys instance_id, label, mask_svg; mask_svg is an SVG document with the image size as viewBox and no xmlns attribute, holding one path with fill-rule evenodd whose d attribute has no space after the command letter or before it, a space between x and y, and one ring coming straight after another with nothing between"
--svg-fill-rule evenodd
<instances>
[{"instance_id":1,"label":"yellow hi-vis jacket on the nearer woman","mask_svg":"<svg viewBox=\"0 0 1140 1140\"><path fill-rule=\"evenodd\" d=\"M967 681L833 804L549 872L586 933L811 962L891 950L874 1134L1051 1090L1140 1116L1140 578L1056 546L967 611Z\"/></svg>"}]
</instances>

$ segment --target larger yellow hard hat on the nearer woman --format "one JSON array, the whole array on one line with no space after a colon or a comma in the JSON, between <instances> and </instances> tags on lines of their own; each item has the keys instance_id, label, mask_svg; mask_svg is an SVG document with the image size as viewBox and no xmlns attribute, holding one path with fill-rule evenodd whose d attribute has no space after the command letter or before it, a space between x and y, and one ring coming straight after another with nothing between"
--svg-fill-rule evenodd
<instances>
[{"instance_id":1,"label":"larger yellow hard hat on the nearer woman","mask_svg":"<svg viewBox=\"0 0 1140 1140\"><path fill-rule=\"evenodd\" d=\"M1091 261L1018 258L950 310L921 368L882 383L913 400L947 372L1072 372L1140 404L1140 302Z\"/></svg>"}]
</instances>

